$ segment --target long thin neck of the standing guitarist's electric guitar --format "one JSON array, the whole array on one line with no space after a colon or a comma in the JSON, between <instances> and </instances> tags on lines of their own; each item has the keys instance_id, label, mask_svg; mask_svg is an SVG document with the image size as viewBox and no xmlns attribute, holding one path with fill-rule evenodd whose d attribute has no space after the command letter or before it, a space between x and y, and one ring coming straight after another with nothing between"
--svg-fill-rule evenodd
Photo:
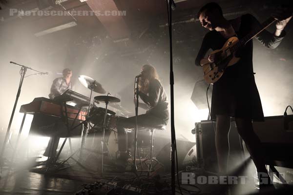
<instances>
[{"instance_id":1,"label":"long thin neck of the standing guitarist's electric guitar","mask_svg":"<svg viewBox=\"0 0 293 195\"><path fill-rule=\"evenodd\" d=\"M276 19L270 17L268 20L264 21L261 26L258 28L253 29L248 35L243 37L242 39L239 40L238 43L236 43L232 48L231 51L235 52L239 48L243 47L248 41L253 39L255 36L257 36L259 33L261 33L263 30L268 28Z\"/></svg>"}]
</instances>

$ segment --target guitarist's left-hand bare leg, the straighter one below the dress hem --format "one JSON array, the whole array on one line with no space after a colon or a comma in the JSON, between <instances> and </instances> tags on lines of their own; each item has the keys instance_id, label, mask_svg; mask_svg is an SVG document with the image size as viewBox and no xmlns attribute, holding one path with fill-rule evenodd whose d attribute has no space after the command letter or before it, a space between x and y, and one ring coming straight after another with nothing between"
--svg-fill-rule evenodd
<instances>
[{"instance_id":1,"label":"guitarist's left-hand bare leg, the straighter one below the dress hem","mask_svg":"<svg viewBox=\"0 0 293 195\"><path fill-rule=\"evenodd\" d=\"M218 157L219 173L227 172L227 163L229 155L228 134L230 130L230 117L227 115L216 116L216 151Z\"/></svg>"}]
</instances>

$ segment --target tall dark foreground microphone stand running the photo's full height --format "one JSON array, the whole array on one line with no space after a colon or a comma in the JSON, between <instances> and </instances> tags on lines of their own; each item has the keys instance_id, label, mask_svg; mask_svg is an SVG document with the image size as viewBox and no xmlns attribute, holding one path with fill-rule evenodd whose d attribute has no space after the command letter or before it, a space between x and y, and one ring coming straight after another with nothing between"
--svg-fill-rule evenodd
<instances>
[{"instance_id":1,"label":"tall dark foreground microphone stand running the photo's full height","mask_svg":"<svg viewBox=\"0 0 293 195\"><path fill-rule=\"evenodd\" d=\"M174 73L173 73L173 53L172 53L172 7L174 9L173 0L169 0L168 8L168 27L169 27L169 44L170 44L170 100L171 100L171 195L175 195L175 151L176 136L174 124ZM178 163L178 162L177 162ZM179 181L178 181L179 182Z\"/></svg>"}]
</instances>

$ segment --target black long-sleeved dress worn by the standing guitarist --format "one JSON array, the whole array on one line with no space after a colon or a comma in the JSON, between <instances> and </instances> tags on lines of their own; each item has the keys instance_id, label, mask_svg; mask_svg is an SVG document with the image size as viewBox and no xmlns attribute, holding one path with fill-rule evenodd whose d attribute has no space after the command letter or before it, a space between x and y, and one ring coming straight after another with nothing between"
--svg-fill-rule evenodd
<instances>
[{"instance_id":1,"label":"black long-sleeved dress worn by the standing guitarist","mask_svg":"<svg viewBox=\"0 0 293 195\"><path fill-rule=\"evenodd\" d=\"M243 38L254 28L259 28L260 23L250 14L241 16L241 24L236 35L238 39ZM280 37L275 37L270 32L262 31L256 39L268 48L277 47L285 32ZM209 49L221 49L225 39L219 32L213 30L206 34L200 51L196 57L195 64L199 65ZM211 119L215 120L216 115L228 115L230 117L250 118L255 121L263 121L264 114L255 84L252 65L252 40L247 42L236 64L229 66L223 76L214 83L211 100Z\"/></svg>"}]
</instances>

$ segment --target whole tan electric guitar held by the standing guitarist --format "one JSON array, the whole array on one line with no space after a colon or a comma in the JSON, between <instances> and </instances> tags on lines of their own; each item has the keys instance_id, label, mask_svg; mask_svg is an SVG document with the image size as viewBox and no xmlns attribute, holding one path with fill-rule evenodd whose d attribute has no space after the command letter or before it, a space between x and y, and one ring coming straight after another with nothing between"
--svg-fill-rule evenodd
<instances>
[{"instance_id":1,"label":"whole tan electric guitar held by the standing guitarist","mask_svg":"<svg viewBox=\"0 0 293 195\"><path fill-rule=\"evenodd\" d=\"M240 58L235 57L235 53L275 21L276 19L270 17L262 24L261 29L252 30L242 39L239 40L237 37L228 39L221 49L211 52L215 55L214 62L210 62L208 58L202 59L200 65L203 66L205 81L207 83L218 81L228 66L232 66L239 61Z\"/></svg>"}]
</instances>

